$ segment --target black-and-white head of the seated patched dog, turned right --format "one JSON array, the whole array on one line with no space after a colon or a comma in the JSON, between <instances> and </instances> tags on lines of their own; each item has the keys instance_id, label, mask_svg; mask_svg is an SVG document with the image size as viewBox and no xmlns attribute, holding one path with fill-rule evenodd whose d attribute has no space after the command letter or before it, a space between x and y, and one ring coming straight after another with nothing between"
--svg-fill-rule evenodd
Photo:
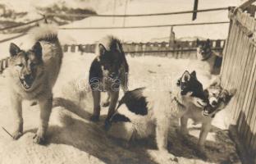
<instances>
[{"instance_id":1,"label":"black-and-white head of the seated patched dog, turned right","mask_svg":"<svg viewBox=\"0 0 256 164\"><path fill-rule=\"evenodd\" d=\"M197 107L205 107L207 98L203 93L203 84L199 82L195 71L185 71L178 80L177 85L181 89L181 96L190 100Z\"/></svg>"}]
</instances>

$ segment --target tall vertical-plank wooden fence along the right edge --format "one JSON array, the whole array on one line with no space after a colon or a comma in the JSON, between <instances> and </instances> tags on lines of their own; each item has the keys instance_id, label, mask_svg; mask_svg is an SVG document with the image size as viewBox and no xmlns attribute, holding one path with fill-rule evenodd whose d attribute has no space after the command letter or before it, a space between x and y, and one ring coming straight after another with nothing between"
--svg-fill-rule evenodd
<instances>
[{"instance_id":1,"label":"tall vertical-plank wooden fence along the right edge","mask_svg":"<svg viewBox=\"0 0 256 164\"><path fill-rule=\"evenodd\" d=\"M229 11L229 36L222 62L222 84L237 89L229 107L247 152L256 154L256 7Z\"/></svg>"}]
</instances>

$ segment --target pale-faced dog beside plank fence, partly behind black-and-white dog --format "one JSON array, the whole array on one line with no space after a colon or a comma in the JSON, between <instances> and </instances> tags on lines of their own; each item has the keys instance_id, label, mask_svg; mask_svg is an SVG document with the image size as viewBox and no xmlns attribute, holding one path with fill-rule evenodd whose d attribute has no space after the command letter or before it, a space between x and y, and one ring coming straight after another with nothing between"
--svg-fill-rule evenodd
<instances>
[{"instance_id":1,"label":"pale-faced dog beside plank fence, partly behind black-and-white dog","mask_svg":"<svg viewBox=\"0 0 256 164\"><path fill-rule=\"evenodd\" d=\"M215 114L226 107L231 101L236 90L223 89L220 84L220 79L217 78L207 89L204 90L206 97L208 98L207 107L195 107L190 106L189 110L181 116L181 133L188 134L187 122L191 118L194 124L202 123L201 131L199 134L199 148L203 150L203 145L206 140L207 134L212 127L212 121ZM202 114L203 113L203 114Z\"/></svg>"}]
</instances>

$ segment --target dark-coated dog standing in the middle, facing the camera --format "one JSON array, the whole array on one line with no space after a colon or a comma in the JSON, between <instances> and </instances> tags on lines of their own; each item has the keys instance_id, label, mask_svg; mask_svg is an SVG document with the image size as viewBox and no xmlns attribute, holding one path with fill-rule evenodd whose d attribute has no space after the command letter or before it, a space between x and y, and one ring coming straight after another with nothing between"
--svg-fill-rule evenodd
<instances>
[{"instance_id":1,"label":"dark-coated dog standing in the middle, facing the camera","mask_svg":"<svg viewBox=\"0 0 256 164\"><path fill-rule=\"evenodd\" d=\"M119 96L119 89L126 92L127 75L129 71L126 56L121 41L113 36L107 36L96 45L97 57L89 69L89 84L94 98L94 113L92 121L98 121L100 115L100 93L107 92L103 106L108 108L107 119L114 114Z\"/></svg>"}]
</instances>

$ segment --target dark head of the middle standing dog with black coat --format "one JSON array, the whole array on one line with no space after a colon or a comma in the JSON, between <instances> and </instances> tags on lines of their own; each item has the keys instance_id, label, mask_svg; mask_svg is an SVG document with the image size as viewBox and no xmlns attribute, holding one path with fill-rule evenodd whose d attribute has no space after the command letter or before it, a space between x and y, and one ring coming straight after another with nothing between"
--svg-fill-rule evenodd
<instances>
[{"instance_id":1,"label":"dark head of the middle standing dog with black coat","mask_svg":"<svg viewBox=\"0 0 256 164\"><path fill-rule=\"evenodd\" d=\"M107 50L103 44L98 44L99 62L103 67L103 70L107 71L108 77L112 79L119 77L120 73L121 63L123 60L123 52L121 51L120 46L120 44L115 44L115 46L112 46Z\"/></svg>"}]
</instances>

